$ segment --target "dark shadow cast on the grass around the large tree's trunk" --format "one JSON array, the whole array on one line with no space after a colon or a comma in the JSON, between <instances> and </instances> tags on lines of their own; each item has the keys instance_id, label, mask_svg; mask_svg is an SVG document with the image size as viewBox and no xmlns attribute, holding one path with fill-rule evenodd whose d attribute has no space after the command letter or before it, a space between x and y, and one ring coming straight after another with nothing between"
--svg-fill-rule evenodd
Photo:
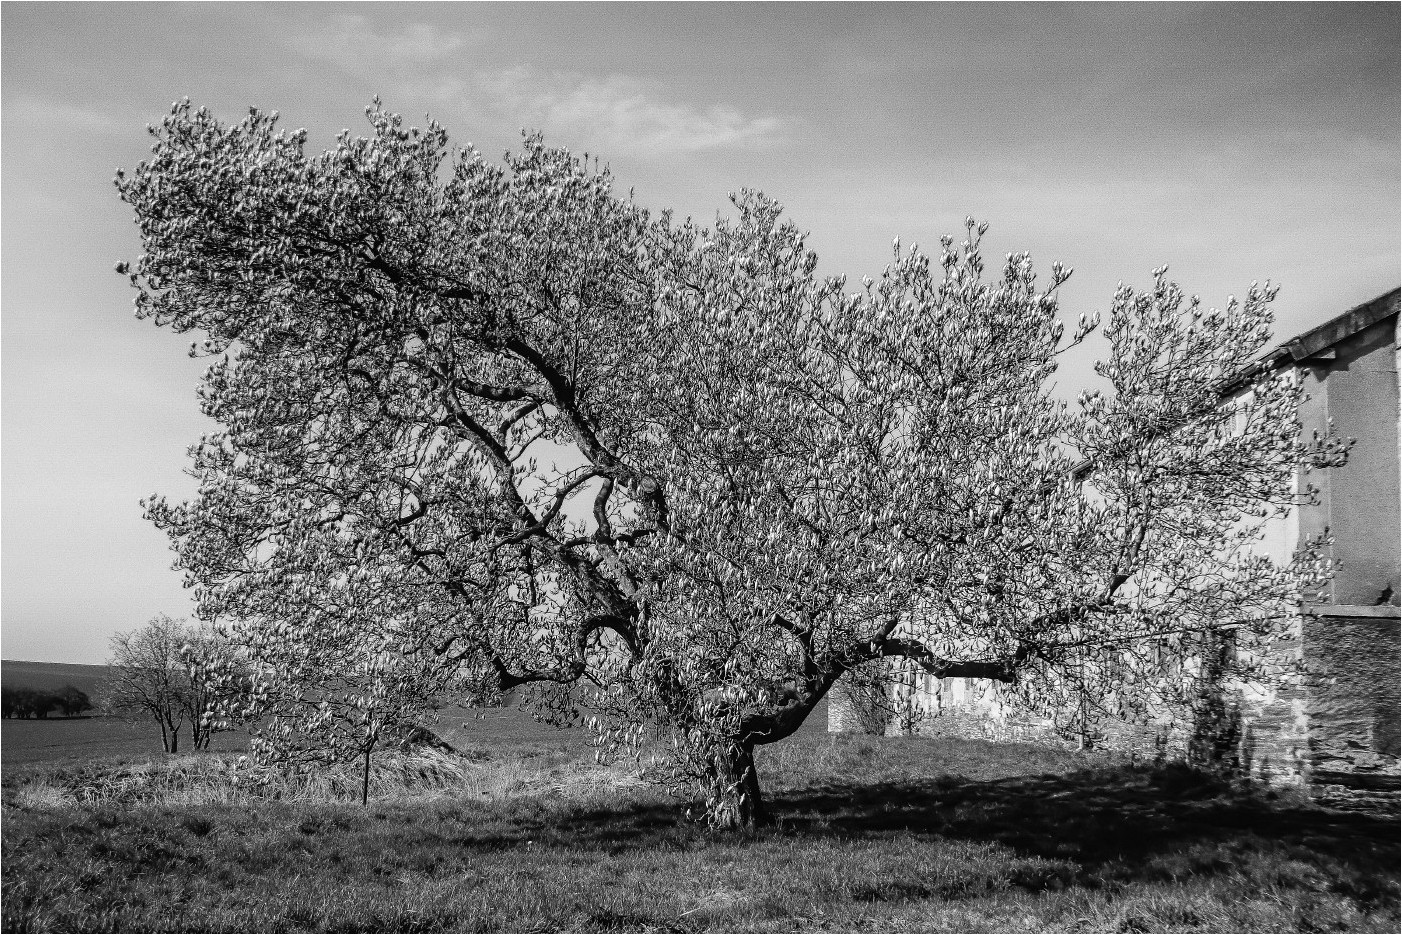
<instances>
[{"instance_id":1,"label":"dark shadow cast on the grass around the large tree's trunk","mask_svg":"<svg viewBox=\"0 0 1402 935\"><path fill-rule=\"evenodd\" d=\"M880 841L904 835L1004 845L1022 856L1074 862L1078 883L1155 882L1231 869L1249 854L1332 862L1371 880L1366 901L1395 901L1396 817L1329 812L1186 768L1122 767L1002 779L833 782L773 795L774 837ZM716 835L688 821L680 803L569 809L512 819L513 831L475 840L515 847L547 840L575 848L687 848ZM499 830L499 828L498 828ZM742 833L719 835L735 842ZM464 841L467 842L467 841ZM1070 883L1073 880L1064 880ZM1384 890L1392 890L1389 896Z\"/></svg>"}]
</instances>

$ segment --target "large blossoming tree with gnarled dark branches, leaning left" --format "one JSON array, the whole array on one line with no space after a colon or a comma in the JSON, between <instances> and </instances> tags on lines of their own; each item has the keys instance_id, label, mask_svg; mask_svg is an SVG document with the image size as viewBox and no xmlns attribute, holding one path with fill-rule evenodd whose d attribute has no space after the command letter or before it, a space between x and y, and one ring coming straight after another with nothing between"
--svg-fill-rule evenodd
<instances>
[{"instance_id":1,"label":"large blossoming tree with gnarled dark branches, leaning left","mask_svg":"<svg viewBox=\"0 0 1402 935\"><path fill-rule=\"evenodd\" d=\"M181 104L118 178L137 314L203 335L220 426L196 498L147 509L262 671L342 634L533 688L670 744L711 820L749 824L754 747L852 669L1033 692L1084 676L1068 646L1164 657L1159 631L1298 590L1235 538L1290 495L1295 390L1263 374L1224 416L1213 388L1269 290L1119 294L1110 388L1073 411L1050 377L1096 322L1063 334L1059 266L987 276L979 227L848 292L761 195L679 223L538 137L495 165L369 116L308 154L276 115Z\"/></svg>"}]
</instances>

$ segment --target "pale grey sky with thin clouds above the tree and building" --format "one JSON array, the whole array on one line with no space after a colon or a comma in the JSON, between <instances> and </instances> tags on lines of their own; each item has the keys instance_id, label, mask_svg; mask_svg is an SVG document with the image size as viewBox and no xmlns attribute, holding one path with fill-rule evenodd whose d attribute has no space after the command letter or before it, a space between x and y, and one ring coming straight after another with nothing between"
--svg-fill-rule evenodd
<instances>
[{"instance_id":1,"label":"pale grey sky with thin clouds above the tree and building","mask_svg":"<svg viewBox=\"0 0 1402 935\"><path fill-rule=\"evenodd\" d=\"M1272 279L1288 338L1402 279L1398 10L6 3L0 650L97 663L191 610L137 499L192 491L203 364L112 272L114 170L179 97L318 147L376 94L494 158L540 128L652 207L763 189L852 278L973 214L1075 266L1071 321L1161 264L1211 304Z\"/></svg>"}]
</instances>

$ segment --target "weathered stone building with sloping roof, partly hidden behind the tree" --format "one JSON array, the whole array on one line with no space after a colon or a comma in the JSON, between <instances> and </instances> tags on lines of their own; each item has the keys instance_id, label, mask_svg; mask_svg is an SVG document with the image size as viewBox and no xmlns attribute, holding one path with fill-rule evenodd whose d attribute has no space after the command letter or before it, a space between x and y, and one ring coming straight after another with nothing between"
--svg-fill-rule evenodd
<instances>
[{"instance_id":1,"label":"weathered stone building with sloping roof, partly hidden behind the tree","mask_svg":"<svg viewBox=\"0 0 1402 935\"><path fill-rule=\"evenodd\" d=\"M1326 599L1301 608L1293 646L1309 671L1283 687L1232 688L1239 722L1232 735L1238 763L1253 775L1305 785L1323 798L1398 789L1399 747L1399 437L1398 290L1352 308L1293 338L1260 360L1300 370L1305 436L1333 421L1357 439L1347 464L1312 472L1318 503L1273 521L1262 548L1286 559L1304 540L1328 531L1336 562ZM1239 387L1225 387L1231 398ZM885 702L885 704L880 704ZM1106 746L1143 747L1151 736L1109 725ZM1178 725L1176 749L1186 749ZM958 733L994 739L1053 739L1046 723L1004 712L987 683L934 680L893 669L834 687L829 730ZM1057 737L1067 742L1066 737ZM1075 739L1070 740L1075 743Z\"/></svg>"}]
</instances>

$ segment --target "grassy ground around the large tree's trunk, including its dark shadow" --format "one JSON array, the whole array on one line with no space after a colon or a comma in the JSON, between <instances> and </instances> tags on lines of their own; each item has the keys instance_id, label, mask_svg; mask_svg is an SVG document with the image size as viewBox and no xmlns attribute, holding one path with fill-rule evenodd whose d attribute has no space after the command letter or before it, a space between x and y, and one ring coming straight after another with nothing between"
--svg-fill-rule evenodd
<instances>
[{"instance_id":1,"label":"grassy ground around the large tree's trunk, including its dark shadow","mask_svg":"<svg viewBox=\"0 0 1402 935\"><path fill-rule=\"evenodd\" d=\"M1396 819L1032 746L801 735L753 834L558 736L227 760L7 768L4 931L1398 931Z\"/></svg>"}]
</instances>

